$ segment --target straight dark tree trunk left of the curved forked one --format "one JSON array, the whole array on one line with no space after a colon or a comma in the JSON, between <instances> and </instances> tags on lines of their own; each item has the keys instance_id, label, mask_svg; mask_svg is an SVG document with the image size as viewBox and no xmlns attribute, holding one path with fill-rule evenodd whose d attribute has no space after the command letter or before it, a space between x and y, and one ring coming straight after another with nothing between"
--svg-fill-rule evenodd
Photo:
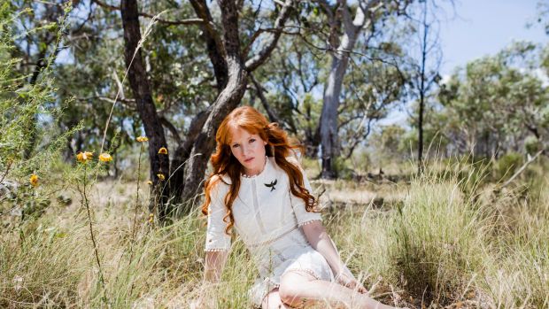
<instances>
[{"instance_id":1,"label":"straight dark tree trunk left of the curved forked one","mask_svg":"<svg viewBox=\"0 0 549 309\"><path fill-rule=\"evenodd\" d=\"M171 212L166 206L169 186L165 185L170 171L170 161L168 155L159 154L160 148L166 147L167 149L166 136L152 101L151 86L143 66L141 49L136 50L141 40L137 1L122 0L120 6L122 27L124 28L124 56L128 67L128 80L135 97L137 111L143 122L145 134L149 137L150 174L153 182L150 210L151 212L154 211L154 206L159 205L159 219L164 220ZM161 181L158 174L164 174L166 180Z\"/></svg>"}]
</instances>

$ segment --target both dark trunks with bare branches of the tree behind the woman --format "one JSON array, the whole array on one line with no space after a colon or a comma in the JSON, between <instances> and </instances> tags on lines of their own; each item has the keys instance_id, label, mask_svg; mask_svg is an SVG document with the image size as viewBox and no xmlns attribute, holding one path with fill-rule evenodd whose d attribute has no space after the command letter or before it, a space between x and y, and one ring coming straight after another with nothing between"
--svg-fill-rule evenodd
<instances>
[{"instance_id":1,"label":"both dark trunks with bare branches of the tree behind the woman","mask_svg":"<svg viewBox=\"0 0 549 309\"><path fill-rule=\"evenodd\" d=\"M97 1L96 1L97 2ZM210 59L213 76L217 83L218 95L190 121L185 140L175 147L171 171L170 187L172 192L164 191L163 197L180 197L183 201L191 201L196 197L200 184L204 180L205 169L210 154L215 146L214 137L220 121L232 111L244 97L248 83L248 74L261 66L276 47L282 35L282 27L290 17L292 10L298 9L295 1L287 0L283 4L274 4L267 12L278 11L277 14L259 13L258 19L252 23L249 31L250 40L241 37L239 15L244 10L244 3L220 0L219 16L213 15L211 5L205 1L191 1L197 19L183 21L183 24L198 25L202 30L205 50ZM264 11L258 4L258 11ZM105 5L106 6L106 5ZM143 58L139 49L142 35L139 28L139 10L135 0L124 0L120 6L125 37L126 66L130 87L136 102L140 107L140 116L145 132L150 137L151 175L164 172L170 164L167 156L159 155L160 147L167 146L163 127L160 124L152 97L148 73L143 66ZM260 39L260 40L258 40ZM154 187L162 186L156 177ZM166 186L163 186L166 187ZM179 199L179 198L178 198ZM164 200L166 201L166 199ZM189 204L187 204L189 205ZM164 204L163 214L170 212L170 206ZM189 206L182 209L188 212Z\"/></svg>"}]
</instances>

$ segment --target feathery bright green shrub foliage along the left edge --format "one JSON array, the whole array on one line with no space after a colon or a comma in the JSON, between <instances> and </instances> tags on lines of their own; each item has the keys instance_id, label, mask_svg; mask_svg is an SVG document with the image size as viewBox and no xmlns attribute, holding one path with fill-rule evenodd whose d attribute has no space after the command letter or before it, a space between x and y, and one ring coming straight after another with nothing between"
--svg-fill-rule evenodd
<instances>
[{"instance_id":1,"label":"feathery bright green shrub foliage along the left edge","mask_svg":"<svg viewBox=\"0 0 549 309\"><path fill-rule=\"evenodd\" d=\"M54 127L62 118L63 109L53 104L58 90L53 86L53 59L43 59L45 65L35 81L17 70L22 60L12 57L17 38L14 25L21 16L29 14L32 11L13 12L8 4L0 5L3 16L0 19L3 30L0 32L0 186L3 187L0 213L11 210L21 219L40 215L50 205L50 193L42 191L40 186L43 182L55 182L55 176L50 174L51 159L59 156L67 137L76 129L71 127L61 132ZM28 32L57 30L54 34L59 37L63 19L60 25L49 24ZM31 174L38 176L36 188L29 183Z\"/></svg>"}]
</instances>

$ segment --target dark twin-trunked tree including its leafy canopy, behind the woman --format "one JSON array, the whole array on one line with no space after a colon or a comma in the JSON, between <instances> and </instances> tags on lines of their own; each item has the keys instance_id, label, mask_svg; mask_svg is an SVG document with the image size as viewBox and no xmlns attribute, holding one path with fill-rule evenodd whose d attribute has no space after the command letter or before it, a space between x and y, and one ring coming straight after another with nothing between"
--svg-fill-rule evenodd
<instances>
[{"instance_id":1,"label":"dark twin-trunked tree including its leafy canopy, behind the woman","mask_svg":"<svg viewBox=\"0 0 549 309\"><path fill-rule=\"evenodd\" d=\"M57 72L58 96L76 101L61 126L84 122L69 143L75 151L103 144L103 134L106 148L120 144L116 135L130 143L143 125L164 217L174 202L195 197L220 120L241 102L249 74L267 61L290 16L298 16L298 1L75 4L71 15L84 22L74 23L80 35L66 35ZM171 156L160 155L161 147Z\"/></svg>"}]
</instances>

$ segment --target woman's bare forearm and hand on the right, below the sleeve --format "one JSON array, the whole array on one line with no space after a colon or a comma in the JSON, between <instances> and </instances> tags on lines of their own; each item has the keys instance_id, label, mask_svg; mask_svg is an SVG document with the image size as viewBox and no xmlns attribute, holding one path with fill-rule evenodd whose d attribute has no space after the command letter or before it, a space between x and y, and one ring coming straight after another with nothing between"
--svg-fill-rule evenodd
<instances>
[{"instance_id":1,"label":"woman's bare forearm and hand on the right, below the sleeve","mask_svg":"<svg viewBox=\"0 0 549 309\"><path fill-rule=\"evenodd\" d=\"M333 273L336 274L336 281L350 289L358 287L359 292L367 293L366 288L360 282L354 279L352 275L347 274L347 267L344 266L343 261L339 258L336 247L322 222L315 220L303 225L302 228L307 241L311 243L314 250L319 251L324 259L328 261Z\"/></svg>"}]
</instances>

